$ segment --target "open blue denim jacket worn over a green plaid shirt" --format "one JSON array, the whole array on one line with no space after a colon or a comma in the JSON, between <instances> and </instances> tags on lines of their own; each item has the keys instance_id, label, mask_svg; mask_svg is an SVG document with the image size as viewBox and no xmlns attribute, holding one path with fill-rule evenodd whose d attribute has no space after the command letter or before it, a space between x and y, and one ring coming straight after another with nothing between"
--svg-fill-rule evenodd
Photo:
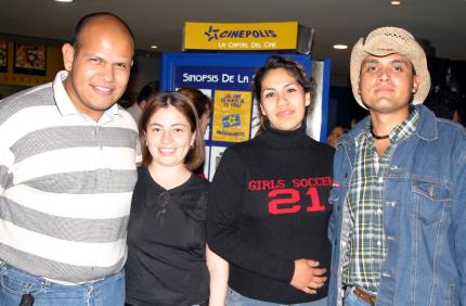
<instances>
[{"instance_id":1,"label":"open blue denim jacket worn over a green plaid shirt","mask_svg":"<svg viewBox=\"0 0 466 306\"><path fill-rule=\"evenodd\" d=\"M377 305L466 305L466 130L424 105L414 135L396 148L384 184L387 257ZM333 243L328 305L342 305L348 258L346 197L354 138L368 118L341 137L334 161Z\"/></svg>"}]
</instances>

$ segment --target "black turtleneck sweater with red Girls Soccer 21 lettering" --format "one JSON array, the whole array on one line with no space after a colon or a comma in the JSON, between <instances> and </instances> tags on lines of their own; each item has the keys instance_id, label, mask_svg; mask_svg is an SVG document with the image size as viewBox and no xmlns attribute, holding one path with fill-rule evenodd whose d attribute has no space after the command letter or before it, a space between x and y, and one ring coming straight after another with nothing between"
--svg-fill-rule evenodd
<instances>
[{"instance_id":1,"label":"black turtleneck sweater with red Girls Soccer 21 lettering","mask_svg":"<svg viewBox=\"0 0 466 306\"><path fill-rule=\"evenodd\" d=\"M289 283L295 259L329 269L327 204L334 149L303 127L266 131L225 150L210 184L208 243L230 263L229 285L260 301L294 304L321 299Z\"/></svg>"}]
</instances>

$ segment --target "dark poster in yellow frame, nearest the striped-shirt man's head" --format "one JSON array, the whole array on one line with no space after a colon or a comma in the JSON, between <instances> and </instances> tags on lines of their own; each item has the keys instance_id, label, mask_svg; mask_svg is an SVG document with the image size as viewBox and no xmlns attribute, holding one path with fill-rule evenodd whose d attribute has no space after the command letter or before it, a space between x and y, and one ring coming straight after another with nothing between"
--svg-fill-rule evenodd
<instances>
[{"instance_id":1,"label":"dark poster in yellow frame, nearest the striped-shirt man's head","mask_svg":"<svg viewBox=\"0 0 466 306\"><path fill-rule=\"evenodd\" d=\"M46 75L47 47L33 43L14 43L14 73Z\"/></svg>"}]
</instances>

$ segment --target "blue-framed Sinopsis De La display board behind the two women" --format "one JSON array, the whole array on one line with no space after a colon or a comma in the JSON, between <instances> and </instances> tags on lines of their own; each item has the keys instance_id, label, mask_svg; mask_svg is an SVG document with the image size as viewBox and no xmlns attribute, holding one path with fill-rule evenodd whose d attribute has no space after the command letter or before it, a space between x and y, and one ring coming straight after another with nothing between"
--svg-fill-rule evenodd
<instances>
[{"instance_id":1,"label":"blue-framed Sinopsis De La display board behind the two women","mask_svg":"<svg viewBox=\"0 0 466 306\"><path fill-rule=\"evenodd\" d=\"M209 95L213 114L205 135L205 176L211 180L216 165L229 145L250 139L259 127L257 101L253 98L251 84L258 67L277 54L269 53L163 53L160 62L160 90L174 91L180 87L194 87ZM305 54L280 54L293 58L306 69L313 68L312 56ZM321 101L308 112L307 132L316 140L326 138L329 72L327 64L314 65L322 81L315 90ZM327 69L328 71L328 69ZM319 87L320 85L320 87Z\"/></svg>"}]
</instances>

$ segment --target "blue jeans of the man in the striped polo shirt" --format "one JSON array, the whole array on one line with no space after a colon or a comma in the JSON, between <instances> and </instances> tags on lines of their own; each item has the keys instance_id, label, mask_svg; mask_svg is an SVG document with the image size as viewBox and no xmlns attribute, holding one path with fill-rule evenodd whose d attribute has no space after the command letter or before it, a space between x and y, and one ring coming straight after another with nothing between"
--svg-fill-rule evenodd
<instances>
[{"instance_id":1,"label":"blue jeans of the man in the striped polo shirt","mask_svg":"<svg viewBox=\"0 0 466 306\"><path fill-rule=\"evenodd\" d=\"M62 285L0 264L0 305L17 306L30 293L34 306L122 306L125 271L78 285Z\"/></svg>"}]
</instances>

